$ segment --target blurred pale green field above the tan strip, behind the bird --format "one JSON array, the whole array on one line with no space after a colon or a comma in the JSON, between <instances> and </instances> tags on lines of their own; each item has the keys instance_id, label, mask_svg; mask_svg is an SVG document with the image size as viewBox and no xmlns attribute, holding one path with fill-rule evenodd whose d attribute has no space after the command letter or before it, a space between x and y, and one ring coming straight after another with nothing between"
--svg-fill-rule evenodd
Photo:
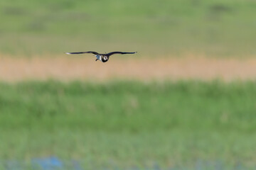
<instances>
[{"instance_id":1,"label":"blurred pale green field above the tan strip, behind the bird","mask_svg":"<svg viewBox=\"0 0 256 170\"><path fill-rule=\"evenodd\" d=\"M1 0L0 51L247 57L256 53L255 7L252 0Z\"/></svg>"}]
</instances>

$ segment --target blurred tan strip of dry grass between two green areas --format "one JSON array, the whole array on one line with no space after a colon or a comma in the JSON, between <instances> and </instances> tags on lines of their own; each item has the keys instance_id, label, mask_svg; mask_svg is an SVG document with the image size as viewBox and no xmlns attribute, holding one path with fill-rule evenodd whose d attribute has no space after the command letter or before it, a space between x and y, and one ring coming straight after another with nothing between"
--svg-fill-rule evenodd
<instances>
[{"instance_id":1,"label":"blurred tan strip of dry grass between two green areas","mask_svg":"<svg viewBox=\"0 0 256 170\"><path fill-rule=\"evenodd\" d=\"M92 56L81 57L0 57L0 80L97 80L139 79L236 79L256 77L255 58L206 58L206 57L112 57L110 62L95 62Z\"/></svg>"}]
</instances>

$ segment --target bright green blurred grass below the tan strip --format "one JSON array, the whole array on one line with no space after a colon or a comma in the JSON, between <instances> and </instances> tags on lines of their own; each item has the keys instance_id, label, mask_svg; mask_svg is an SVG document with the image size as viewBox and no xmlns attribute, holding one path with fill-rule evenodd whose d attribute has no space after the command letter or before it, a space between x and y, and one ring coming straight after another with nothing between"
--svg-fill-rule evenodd
<instances>
[{"instance_id":1,"label":"bright green blurred grass below the tan strip","mask_svg":"<svg viewBox=\"0 0 256 170\"><path fill-rule=\"evenodd\" d=\"M1 83L0 159L254 167L255 101L253 81Z\"/></svg>"}]
</instances>

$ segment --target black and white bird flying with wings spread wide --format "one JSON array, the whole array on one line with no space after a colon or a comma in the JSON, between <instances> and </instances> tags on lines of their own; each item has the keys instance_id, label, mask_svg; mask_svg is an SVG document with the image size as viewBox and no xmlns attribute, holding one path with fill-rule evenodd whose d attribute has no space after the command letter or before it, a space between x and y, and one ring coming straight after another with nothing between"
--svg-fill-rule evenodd
<instances>
[{"instance_id":1,"label":"black and white bird flying with wings spread wide","mask_svg":"<svg viewBox=\"0 0 256 170\"><path fill-rule=\"evenodd\" d=\"M101 62L107 62L110 59L111 55L116 55L116 54L120 54L120 55L135 54L137 52L109 52L109 53L106 53L106 54L100 54L100 53L94 52L94 51L87 51L87 52L65 52L65 53L67 55L79 55L79 54L85 54L85 53L92 53L96 57L95 62L97 62L97 60L100 60Z\"/></svg>"}]
</instances>

